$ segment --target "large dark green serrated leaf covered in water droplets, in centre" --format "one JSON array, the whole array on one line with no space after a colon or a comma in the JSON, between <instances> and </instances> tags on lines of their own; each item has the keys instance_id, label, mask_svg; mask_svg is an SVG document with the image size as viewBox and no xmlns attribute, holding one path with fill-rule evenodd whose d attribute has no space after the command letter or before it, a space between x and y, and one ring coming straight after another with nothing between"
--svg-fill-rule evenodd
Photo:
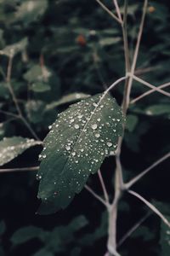
<instances>
[{"instance_id":1,"label":"large dark green serrated leaf covered in water droplets, in centre","mask_svg":"<svg viewBox=\"0 0 170 256\"><path fill-rule=\"evenodd\" d=\"M122 136L122 111L111 96L88 97L59 114L44 140L40 179L39 213L67 207L80 193L88 176L116 150ZM102 97L102 98L101 98Z\"/></svg>"}]
</instances>

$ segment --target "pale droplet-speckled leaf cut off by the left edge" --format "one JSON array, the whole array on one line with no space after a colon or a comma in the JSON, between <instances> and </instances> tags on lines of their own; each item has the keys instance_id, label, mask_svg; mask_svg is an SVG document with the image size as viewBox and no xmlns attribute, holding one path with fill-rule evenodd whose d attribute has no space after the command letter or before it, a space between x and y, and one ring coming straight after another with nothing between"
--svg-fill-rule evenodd
<instances>
[{"instance_id":1,"label":"pale droplet-speckled leaf cut off by the left edge","mask_svg":"<svg viewBox=\"0 0 170 256\"><path fill-rule=\"evenodd\" d=\"M38 144L42 143L24 137L4 137L3 141L0 141L0 166L13 160L27 148Z\"/></svg>"}]
</instances>

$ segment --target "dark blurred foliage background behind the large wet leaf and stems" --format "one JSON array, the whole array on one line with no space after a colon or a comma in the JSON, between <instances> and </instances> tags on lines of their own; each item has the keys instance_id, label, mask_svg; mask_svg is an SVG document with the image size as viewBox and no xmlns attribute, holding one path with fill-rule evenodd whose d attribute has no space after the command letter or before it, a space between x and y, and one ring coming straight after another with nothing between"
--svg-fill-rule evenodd
<instances>
[{"instance_id":1,"label":"dark blurred foliage background behind the large wet leaf and stems","mask_svg":"<svg viewBox=\"0 0 170 256\"><path fill-rule=\"evenodd\" d=\"M111 1L105 3L113 8ZM128 33L133 55L142 1L129 3ZM150 1L138 73L151 84L169 81L169 8L168 1ZM69 105L59 103L62 96L75 92L94 95L124 74L120 28L95 1L1 0L0 48L3 53L8 52L6 47L14 47L19 42L11 84L22 112L41 139L48 133L48 125L54 122L57 113ZM8 58L1 55L0 109L15 113L3 79L7 67ZM144 86L133 83L132 97L144 91ZM123 84L112 93L120 103ZM14 135L31 137L18 119L1 113L0 122L1 139ZM126 180L166 154L169 128L166 96L154 93L132 105L122 148ZM28 149L4 167L36 166L41 150L40 146ZM167 164L168 161L157 166L135 189L168 216ZM102 166L111 195L114 165L114 158L110 157ZM88 182L101 193L96 176ZM1 173L0 255L104 255L107 224L103 207L83 190L65 211L39 216L35 214L39 205L37 185L36 172ZM118 240L147 211L139 201L125 195L120 205ZM168 256L170 248L165 244L165 231L161 221L151 214L120 247L122 255Z\"/></svg>"}]
</instances>

